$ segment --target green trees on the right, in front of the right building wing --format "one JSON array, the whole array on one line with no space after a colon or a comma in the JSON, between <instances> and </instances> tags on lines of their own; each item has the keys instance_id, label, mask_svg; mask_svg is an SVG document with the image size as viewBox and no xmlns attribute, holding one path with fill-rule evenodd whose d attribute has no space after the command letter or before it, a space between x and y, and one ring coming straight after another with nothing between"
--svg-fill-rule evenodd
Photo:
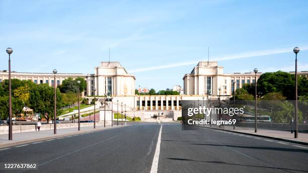
<instances>
[{"instance_id":1,"label":"green trees on the right, in front of the right building wing","mask_svg":"<svg viewBox=\"0 0 308 173\"><path fill-rule=\"evenodd\" d=\"M308 79L297 76L298 122L308 120ZM232 94L234 95L234 94ZM230 100L252 101L255 99L255 83L245 84L235 91ZM289 123L294 116L295 75L288 72L267 72L257 81L258 105L270 110L269 115L275 123ZM248 103L248 102L246 102Z\"/></svg>"}]
</instances>

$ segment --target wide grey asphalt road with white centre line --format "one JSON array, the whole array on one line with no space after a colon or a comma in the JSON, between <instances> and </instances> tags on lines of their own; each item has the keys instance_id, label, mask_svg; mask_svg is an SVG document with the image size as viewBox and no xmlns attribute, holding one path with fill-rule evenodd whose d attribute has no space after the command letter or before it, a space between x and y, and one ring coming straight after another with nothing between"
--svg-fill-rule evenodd
<instances>
[{"instance_id":1,"label":"wide grey asphalt road with white centre line","mask_svg":"<svg viewBox=\"0 0 308 173\"><path fill-rule=\"evenodd\" d=\"M36 170L17 172L150 172L160 128L135 123L12 146L0 150L0 163L38 164ZM308 172L308 147L279 142L163 124L158 172Z\"/></svg>"}]
</instances>

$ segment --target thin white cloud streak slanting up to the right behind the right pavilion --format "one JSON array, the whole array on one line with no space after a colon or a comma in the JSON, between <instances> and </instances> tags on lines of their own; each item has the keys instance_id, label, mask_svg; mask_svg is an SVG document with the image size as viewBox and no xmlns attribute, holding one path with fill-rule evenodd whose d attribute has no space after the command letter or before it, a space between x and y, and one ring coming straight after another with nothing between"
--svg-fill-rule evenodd
<instances>
[{"instance_id":1,"label":"thin white cloud streak slanting up to the right behind the right pavilion","mask_svg":"<svg viewBox=\"0 0 308 173\"><path fill-rule=\"evenodd\" d=\"M213 58L211 58L211 60L223 61L223 60L230 60L230 59L250 58L250 57L256 57L256 56L265 56L265 55L289 53L292 50L293 50L293 47L281 48L281 49L251 51L251 52L243 52L243 53L236 54L236 55L227 55L227 56L222 56L222 57L213 57ZM301 51L308 50L308 46L301 46L300 50ZM192 60L192 61L189 61L189 62L186 61L186 62L179 62L179 63L175 63L175 64L161 65L161 66L137 68L135 70L130 70L130 72L140 72L140 71L149 71L149 70L157 70L157 69L164 69L164 68L174 68L174 67L179 67L179 66L186 66L186 65L197 64L199 61L200 61L200 59Z\"/></svg>"}]
</instances>

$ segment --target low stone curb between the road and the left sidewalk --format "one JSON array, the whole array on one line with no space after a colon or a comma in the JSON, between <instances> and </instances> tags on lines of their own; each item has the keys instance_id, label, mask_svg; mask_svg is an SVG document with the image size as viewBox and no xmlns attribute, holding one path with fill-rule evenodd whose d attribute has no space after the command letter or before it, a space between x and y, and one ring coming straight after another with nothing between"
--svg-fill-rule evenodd
<instances>
[{"instance_id":1,"label":"low stone curb between the road and the left sidewalk","mask_svg":"<svg viewBox=\"0 0 308 173\"><path fill-rule=\"evenodd\" d=\"M129 126L129 125L126 125L124 127L127 127L127 126ZM37 142L37 141L42 141L42 140L46 140L46 139L59 138L59 137L65 137L65 136L70 136L70 135L75 135L75 134L83 134L83 133L88 133L88 132L104 131L104 130L109 130L109 129L113 129L113 128L121 128L121 127L107 127L107 128L104 128L104 129L93 129L93 130L87 130L87 131L82 131L82 132L78 131L78 132L66 133L66 134L62 134L62 135L48 136L48 137L43 137L43 138L28 139L28 140L23 140L23 141L18 141L18 142L0 144L0 149L6 148L6 147L9 147L9 146L19 145L19 144L25 144L25 143L29 143L29 142Z\"/></svg>"}]
</instances>

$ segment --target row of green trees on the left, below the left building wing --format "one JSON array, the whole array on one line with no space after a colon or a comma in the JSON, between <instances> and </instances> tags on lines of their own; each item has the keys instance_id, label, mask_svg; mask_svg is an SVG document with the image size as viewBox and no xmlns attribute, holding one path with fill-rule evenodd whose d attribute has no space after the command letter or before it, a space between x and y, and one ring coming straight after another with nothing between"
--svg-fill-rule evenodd
<instances>
[{"instance_id":1,"label":"row of green trees on the left, below the left building wing","mask_svg":"<svg viewBox=\"0 0 308 173\"><path fill-rule=\"evenodd\" d=\"M83 92L87 83L84 78L67 78L56 89L57 115L61 114L61 108L78 102L78 83ZM52 119L54 115L54 88L47 83L35 84L31 80L12 79L12 113L20 115L24 106L33 109L33 112L41 115L41 118ZM9 80L0 83L0 118L9 116Z\"/></svg>"}]
</instances>

